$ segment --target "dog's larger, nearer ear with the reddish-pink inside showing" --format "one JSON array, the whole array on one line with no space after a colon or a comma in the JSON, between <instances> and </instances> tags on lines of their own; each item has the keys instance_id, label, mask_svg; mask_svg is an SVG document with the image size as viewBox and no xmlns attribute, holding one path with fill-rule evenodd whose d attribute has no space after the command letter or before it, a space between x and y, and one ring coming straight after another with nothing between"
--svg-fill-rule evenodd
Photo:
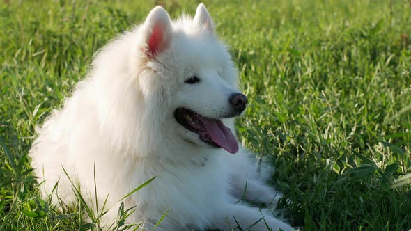
<instances>
[{"instance_id":1,"label":"dog's larger, nearer ear with the reddish-pink inside showing","mask_svg":"<svg viewBox=\"0 0 411 231\"><path fill-rule=\"evenodd\" d=\"M161 6L156 6L148 13L144 22L146 54L153 57L164 51L171 44L173 28L169 14Z\"/></svg>"}]
</instances>

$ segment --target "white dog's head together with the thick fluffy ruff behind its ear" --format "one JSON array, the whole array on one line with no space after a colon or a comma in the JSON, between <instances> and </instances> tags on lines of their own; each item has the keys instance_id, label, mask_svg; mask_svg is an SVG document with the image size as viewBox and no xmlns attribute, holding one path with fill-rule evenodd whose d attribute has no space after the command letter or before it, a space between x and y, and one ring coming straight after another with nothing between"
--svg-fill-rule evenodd
<instances>
[{"instance_id":1,"label":"white dog's head together with the thick fluffy ruff behind its ear","mask_svg":"<svg viewBox=\"0 0 411 231\"><path fill-rule=\"evenodd\" d=\"M247 97L202 3L194 18L174 22L153 8L144 24L102 49L94 66L104 88L100 114L121 146L146 150L169 141L238 152L232 118Z\"/></svg>"}]
</instances>

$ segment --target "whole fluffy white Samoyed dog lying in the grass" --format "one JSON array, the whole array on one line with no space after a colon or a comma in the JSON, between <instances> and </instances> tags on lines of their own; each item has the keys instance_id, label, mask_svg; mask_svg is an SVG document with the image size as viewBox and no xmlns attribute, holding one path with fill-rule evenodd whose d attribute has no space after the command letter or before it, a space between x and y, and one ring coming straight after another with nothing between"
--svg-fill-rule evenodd
<instances>
[{"instance_id":1,"label":"whole fluffy white Samoyed dog lying in the grass","mask_svg":"<svg viewBox=\"0 0 411 231\"><path fill-rule=\"evenodd\" d=\"M113 208L103 216L109 227L118 201L157 176L123 200L136 206L127 222L144 221L150 229L169 209L156 230L232 230L258 220L251 230L292 230L238 203L269 205L279 193L265 184L270 166L258 171L256 158L238 146L233 118L247 97L236 88L237 70L214 30L202 3L194 18L176 21L157 6L102 48L88 77L38 129L29 154L45 195L76 200L63 168L91 203L96 183L100 205L109 195Z\"/></svg>"}]
</instances>

